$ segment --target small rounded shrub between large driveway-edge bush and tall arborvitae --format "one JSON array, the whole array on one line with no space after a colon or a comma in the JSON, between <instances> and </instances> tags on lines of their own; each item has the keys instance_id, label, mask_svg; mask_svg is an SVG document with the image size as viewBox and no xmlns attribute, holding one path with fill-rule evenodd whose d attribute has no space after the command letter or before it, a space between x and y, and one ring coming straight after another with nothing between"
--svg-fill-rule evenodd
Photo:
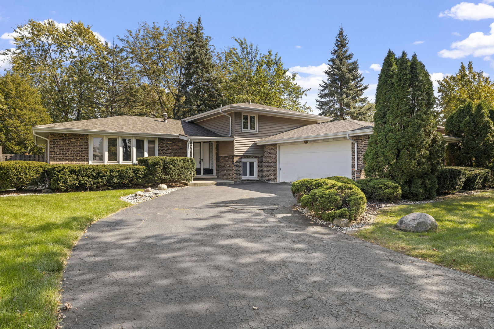
<instances>
[{"instance_id":1,"label":"small rounded shrub between large driveway-edge bush and tall arborvitae","mask_svg":"<svg viewBox=\"0 0 494 329\"><path fill-rule=\"evenodd\" d=\"M357 184L371 200L394 202L402 196L400 185L385 178L366 178L359 180Z\"/></svg>"}]
</instances>

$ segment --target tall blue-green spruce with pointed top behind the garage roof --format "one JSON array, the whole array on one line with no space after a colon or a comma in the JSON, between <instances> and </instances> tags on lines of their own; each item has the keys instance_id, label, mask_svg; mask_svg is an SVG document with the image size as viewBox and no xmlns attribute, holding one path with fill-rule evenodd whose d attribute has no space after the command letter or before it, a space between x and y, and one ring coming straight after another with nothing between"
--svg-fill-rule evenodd
<instances>
[{"instance_id":1,"label":"tall blue-green spruce with pointed top behind the garage roof","mask_svg":"<svg viewBox=\"0 0 494 329\"><path fill-rule=\"evenodd\" d=\"M327 79L319 85L316 108L321 115L330 116L333 120L360 120L363 117L359 107L367 101L367 97L362 95L369 85L362 83L364 77L359 73L358 61L353 60L348 37L341 26L331 56L328 69L324 71Z\"/></svg>"}]
</instances>

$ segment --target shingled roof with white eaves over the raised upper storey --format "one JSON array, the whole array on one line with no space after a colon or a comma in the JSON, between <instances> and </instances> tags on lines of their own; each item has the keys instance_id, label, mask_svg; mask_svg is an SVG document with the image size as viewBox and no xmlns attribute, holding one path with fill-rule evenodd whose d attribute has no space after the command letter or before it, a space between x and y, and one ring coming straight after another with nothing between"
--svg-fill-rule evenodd
<instances>
[{"instance_id":1,"label":"shingled roof with white eaves over the raised upper storey","mask_svg":"<svg viewBox=\"0 0 494 329\"><path fill-rule=\"evenodd\" d=\"M304 120L314 120L317 122L327 122L327 121L332 119L332 118L327 117L327 116L321 116L321 115L312 114L312 113L275 108L275 107L267 106L267 105L254 104L254 103L237 103L237 104L230 104L230 105L224 106L222 108L214 109L214 110L209 110L209 111L197 114L197 115L190 116L190 117L182 119L182 120L187 121L187 122L195 122L195 121L203 120L203 119L206 119L209 117L221 115L223 113L229 113L229 112L232 112L235 110L236 111L255 112L255 113L265 114L265 115L292 117L292 118L298 118L298 119L304 119Z\"/></svg>"}]
</instances>

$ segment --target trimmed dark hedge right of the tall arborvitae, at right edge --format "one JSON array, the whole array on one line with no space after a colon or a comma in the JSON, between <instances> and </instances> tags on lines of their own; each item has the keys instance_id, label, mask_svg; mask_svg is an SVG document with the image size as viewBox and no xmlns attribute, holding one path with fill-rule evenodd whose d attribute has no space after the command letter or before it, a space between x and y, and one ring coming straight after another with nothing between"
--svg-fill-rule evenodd
<instances>
[{"instance_id":1,"label":"trimmed dark hedge right of the tall arborvitae, at right edge","mask_svg":"<svg viewBox=\"0 0 494 329\"><path fill-rule=\"evenodd\" d=\"M438 192L474 190L493 185L493 173L485 168L444 167L437 179Z\"/></svg>"}]
</instances>

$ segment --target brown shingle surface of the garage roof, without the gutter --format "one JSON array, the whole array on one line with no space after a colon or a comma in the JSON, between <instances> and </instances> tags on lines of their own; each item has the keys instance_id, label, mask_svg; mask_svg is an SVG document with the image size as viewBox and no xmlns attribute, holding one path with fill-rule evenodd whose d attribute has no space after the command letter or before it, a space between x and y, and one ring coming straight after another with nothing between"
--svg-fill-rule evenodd
<instances>
[{"instance_id":1,"label":"brown shingle surface of the garage roof, without the gutter","mask_svg":"<svg viewBox=\"0 0 494 329\"><path fill-rule=\"evenodd\" d=\"M342 132L355 132L362 129L373 128L374 124L372 122L360 121L360 120L339 120L319 124L309 124L288 130L281 134L269 136L258 140L257 142L279 140L285 138L298 138L298 137L310 137L325 134L334 134Z\"/></svg>"}]
</instances>

